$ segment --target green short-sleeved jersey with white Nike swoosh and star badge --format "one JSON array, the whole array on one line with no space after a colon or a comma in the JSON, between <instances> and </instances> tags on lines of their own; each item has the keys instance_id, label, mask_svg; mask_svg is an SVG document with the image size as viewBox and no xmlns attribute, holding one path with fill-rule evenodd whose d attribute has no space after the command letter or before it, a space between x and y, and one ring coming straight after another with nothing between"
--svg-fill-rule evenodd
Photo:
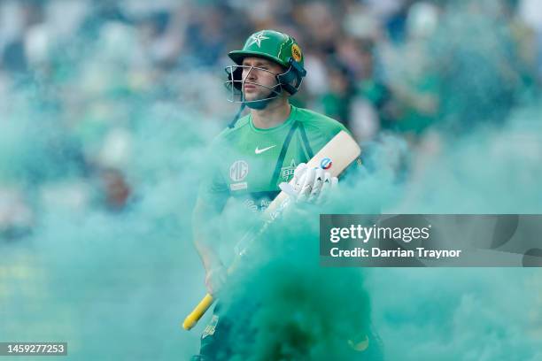
<instances>
[{"instance_id":1,"label":"green short-sleeved jersey with white Nike swoosh and star badge","mask_svg":"<svg viewBox=\"0 0 542 361\"><path fill-rule=\"evenodd\" d=\"M252 114L244 116L211 144L211 172L199 195L219 210L230 196L243 198L252 209L264 209L296 166L341 130L345 127L337 120L293 105L290 117L277 127L260 129L254 127Z\"/></svg>"}]
</instances>

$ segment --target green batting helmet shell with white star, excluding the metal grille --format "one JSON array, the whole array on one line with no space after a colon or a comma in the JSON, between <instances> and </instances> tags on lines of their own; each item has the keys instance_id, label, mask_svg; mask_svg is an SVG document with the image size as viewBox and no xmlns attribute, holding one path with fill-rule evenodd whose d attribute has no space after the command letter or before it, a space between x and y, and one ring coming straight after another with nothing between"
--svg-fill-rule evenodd
<instances>
[{"instance_id":1,"label":"green batting helmet shell with white star, excluding the metal grille","mask_svg":"<svg viewBox=\"0 0 542 361\"><path fill-rule=\"evenodd\" d=\"M236 65L243 65L243 59L247 57L267 58L283 65L286 71L277 75L277 81L290 94L298 91L302 78L306 76L304 55L298 42L290 35L275 30L261 30L252 34L244 42L243 50L230 51L228 56Z\"/></svg>"}]
</instances>

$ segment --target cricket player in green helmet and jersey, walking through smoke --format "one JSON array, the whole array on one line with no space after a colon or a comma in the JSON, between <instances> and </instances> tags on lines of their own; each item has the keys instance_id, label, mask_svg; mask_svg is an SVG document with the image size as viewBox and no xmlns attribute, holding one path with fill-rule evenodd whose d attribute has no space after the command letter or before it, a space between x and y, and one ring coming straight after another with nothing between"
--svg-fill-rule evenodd
<instances>
[{"instance_id":1,"label":"cricket player in green helmet and jersey, walking through smoke","mask_svg":"<svg viewBox=\"0 0 542 361\"><path fill-rule=\"evenodd\" d=\"M248 115L225 129L210 146L209 172L204 175L193 212L193 234L205 266L205 285L213 296L227 272L217 252L217 234L209 225L219 217L229 197L241 198L254 210L264 210L294 178L298 202L317 202L337 183L324 169L307 169L306 162L345 127L314 111L290 104L306 76L304 54L290 35L262 30L251 35L242 50L228 53L230 101L250 108ZM324 166L325 168L325 166ZM228 324L217 305L205 328L200 355L193 360L228 359Z\"/></svg>"}]
</instances>

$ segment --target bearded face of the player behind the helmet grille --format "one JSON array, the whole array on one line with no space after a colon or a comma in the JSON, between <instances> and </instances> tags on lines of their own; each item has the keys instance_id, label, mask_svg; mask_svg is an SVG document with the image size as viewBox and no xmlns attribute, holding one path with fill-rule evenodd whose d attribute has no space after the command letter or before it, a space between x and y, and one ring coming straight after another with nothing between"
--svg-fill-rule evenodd
<instances>
[{"instance_id":1,"label":"bearded face of the player behind the helmet grille","mask_svg":"<svg viewBox=\"0 0 542 361\"><path fill-rule=\"evenodd\" d=\"M247 101L268 97L277 84L275 76L283 73L281 65L264 58L244 58L243 65L243 92Z\"/></svg>"}]
</instances>

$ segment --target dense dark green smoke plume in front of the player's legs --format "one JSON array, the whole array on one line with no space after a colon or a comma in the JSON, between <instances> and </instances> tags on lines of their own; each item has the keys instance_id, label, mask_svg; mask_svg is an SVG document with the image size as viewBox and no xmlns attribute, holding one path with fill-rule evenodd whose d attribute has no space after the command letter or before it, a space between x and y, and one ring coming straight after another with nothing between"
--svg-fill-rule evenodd
<instances>
[{"instance_id":1,"label":"dense dark green smoke plume in front of the player's legs","mask_svg":"<svg viewBox=\"0 0 542 361\"><path fill-rule=\"evenodd\" d=\"M287 216L257 239L222 299L234 358L367 359L348 345L370 328L364 273L321 268L317 214Z\"/></svg>"}]
</instances>

